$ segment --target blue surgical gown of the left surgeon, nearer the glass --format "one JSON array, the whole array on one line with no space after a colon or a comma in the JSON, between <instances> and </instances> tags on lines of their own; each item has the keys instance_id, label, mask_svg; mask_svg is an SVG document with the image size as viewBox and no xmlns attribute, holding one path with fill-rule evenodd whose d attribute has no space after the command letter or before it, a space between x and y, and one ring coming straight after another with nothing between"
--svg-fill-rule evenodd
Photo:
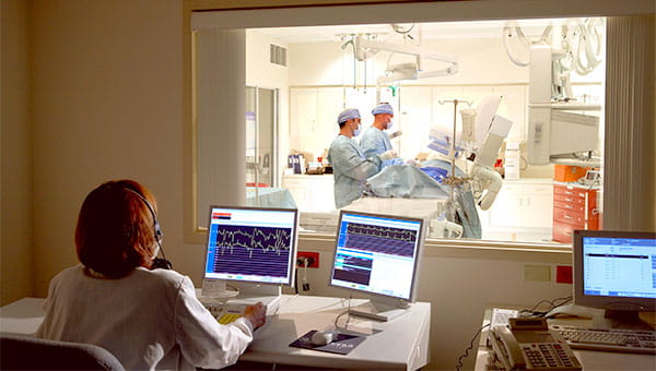
<instances>
[{"instance_id":1,"label":"blue surgical gown of the left surgeon, nearer the glass","mask_svg":"<svg viewBox=\"0 0 656 371\"><path fill-rule=\"evenodd\" d=\"M365 157L355 141L337 136L330 144L328 161L332 165L335 178L335 206L341 208L360 199L364 181L380 170L380 158Z\"/></svg>"}]
</instances>

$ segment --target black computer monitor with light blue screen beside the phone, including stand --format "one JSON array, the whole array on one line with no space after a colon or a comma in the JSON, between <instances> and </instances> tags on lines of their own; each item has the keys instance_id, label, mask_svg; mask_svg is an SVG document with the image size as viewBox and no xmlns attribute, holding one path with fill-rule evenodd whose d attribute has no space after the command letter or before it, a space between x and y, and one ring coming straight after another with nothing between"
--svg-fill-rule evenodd
<instances>
[{"instance_id":1,"label":"black computer monitor with light blue screen beside the phone, including stand","mask_svg":"<svg viewBox=\"0 0 656 371\"><path fill-rule=\"evenodd\" d=\"M605 310L613 327L656 310L656 232L574 230L574 302Z\"/></svg>"}]
</instances>

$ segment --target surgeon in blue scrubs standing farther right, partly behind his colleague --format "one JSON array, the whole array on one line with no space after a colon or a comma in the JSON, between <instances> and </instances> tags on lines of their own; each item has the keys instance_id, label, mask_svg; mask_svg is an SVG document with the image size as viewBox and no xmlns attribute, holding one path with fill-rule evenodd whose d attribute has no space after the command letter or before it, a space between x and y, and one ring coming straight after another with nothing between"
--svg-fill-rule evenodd
<instances>
[{"instance_id":1,"label":"surgeon in blue scrubs standing farther right, partly behind his colleague","mask_svg":"<svg viewBox=\"0 0 656 371\"><path fill-rule=\"evenodd\" d=\"M371 157L383 154L387 151L393 151L389 136L384 130L391 129L394 122L394 109L387 103L382 103L372 110L374 115L374 123L366 128L360 139L360 147L364 152L364 156ZM401 158L391 158L383 161L383 167L389 165L403 164Z\"/></svg>"}]
</instances>

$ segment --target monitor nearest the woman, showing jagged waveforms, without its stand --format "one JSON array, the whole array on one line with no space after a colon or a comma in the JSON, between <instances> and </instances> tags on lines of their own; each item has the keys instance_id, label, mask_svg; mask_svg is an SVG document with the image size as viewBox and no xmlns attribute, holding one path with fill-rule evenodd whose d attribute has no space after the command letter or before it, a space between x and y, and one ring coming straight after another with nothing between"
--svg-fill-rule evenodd
<instances>
[{"instance_id":1,"label":"monitor nearest the woman, showing jagged waveforms, without its stand","mask_svg":"<svg viewBox=\"0 0 656 371\"><path fill-rule=\"evenodd\" d=\"M297 211L210 207L204 278L291 285Z\"/></svg>"}]
</instances>

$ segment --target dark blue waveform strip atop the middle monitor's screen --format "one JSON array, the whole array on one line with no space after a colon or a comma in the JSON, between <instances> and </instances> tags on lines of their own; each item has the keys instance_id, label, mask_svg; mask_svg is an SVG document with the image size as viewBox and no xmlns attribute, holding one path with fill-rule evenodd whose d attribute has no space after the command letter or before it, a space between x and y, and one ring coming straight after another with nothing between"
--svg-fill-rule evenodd
<instances>
[{"instance_id":1,"label":"dark blue waveform strip atop the middle monitor's screen","mask_svg":"<svg viewBox=\"0 0 656 371\"><path fill-rule=\"evenodd\" d=\"M344 247L412 258L417 230L349 223Z\"/></svg>"}]
</instances>

